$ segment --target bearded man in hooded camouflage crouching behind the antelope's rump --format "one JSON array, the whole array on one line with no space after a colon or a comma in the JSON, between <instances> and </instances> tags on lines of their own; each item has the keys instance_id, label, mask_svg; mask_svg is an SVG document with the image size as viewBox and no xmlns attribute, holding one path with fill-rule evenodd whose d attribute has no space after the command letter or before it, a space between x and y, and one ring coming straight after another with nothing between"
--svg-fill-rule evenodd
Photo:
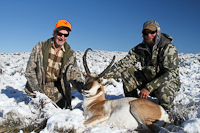
<instances>
[{"instance_id":1,"label":"bearded man in hooded camouflage crouching behind the antelope's rump","mask_svg":"<svg viewBox=\"0 0 200 133\"><path fill-rule=\"evenodd\" d=\"M126 97L155 96L169 109L180 89L178 51L172 37L161 33L155 20L144 23L142 34L143 42L115 63L106 76L116 78L121 74Z\"/></svg>"}]
</instances>

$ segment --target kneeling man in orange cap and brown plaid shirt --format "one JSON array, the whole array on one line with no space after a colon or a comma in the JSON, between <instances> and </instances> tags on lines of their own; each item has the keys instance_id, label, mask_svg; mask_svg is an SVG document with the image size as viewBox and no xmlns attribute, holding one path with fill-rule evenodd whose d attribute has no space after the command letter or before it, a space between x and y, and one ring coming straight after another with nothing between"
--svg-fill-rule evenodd
<instances>
[{"instance_id":1,"label":"kneeling man in orange cap and brown plaid shirt","mask_svg":"<svg viewBox=\"0 0 200 133\"><path fill-rule=\"evenodd\" d=\"M71 24L59 20L53 37L35 45L25 72L25 91L31 97L34 91L45 93L59 107L72 109L70 83L81 92L83 82L76 54L66 42L70 31Z\"/></svg>"}]
</instances>

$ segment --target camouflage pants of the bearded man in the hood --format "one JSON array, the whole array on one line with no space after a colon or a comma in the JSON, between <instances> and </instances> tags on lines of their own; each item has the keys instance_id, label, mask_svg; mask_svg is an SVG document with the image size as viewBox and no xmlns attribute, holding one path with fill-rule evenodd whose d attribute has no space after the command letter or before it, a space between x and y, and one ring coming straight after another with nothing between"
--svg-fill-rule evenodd
<instances>
[{"instance_id":1,"label":"camouflage pants of the bearded man in the hood","mask_svg":"<svg viewBox=\"0 0 200 133\"><path fill-rule=\"evenodd\" d=\"M141 90L145 87L147 80L141 71L136 68L129 68L122 74L123 89L125 97L138 97L137 89ZM153 91L150 95L156 97L159 104L165 109L173 105L173 100L178 92L178 86L170 82Z\"/></svg>"}]
</instances>

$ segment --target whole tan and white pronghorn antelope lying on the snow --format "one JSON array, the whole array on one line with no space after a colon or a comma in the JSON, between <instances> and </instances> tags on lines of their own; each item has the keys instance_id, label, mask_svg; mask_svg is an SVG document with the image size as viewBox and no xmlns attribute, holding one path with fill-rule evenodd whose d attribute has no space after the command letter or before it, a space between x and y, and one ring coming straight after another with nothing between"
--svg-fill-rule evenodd
<instances>
[{"instance_id":1,"label":"whole tan and white pronghorn antelope lying on the snow","mask_svg":"<svg viewBox=\"0 0 200 133\"><path fill-rule=\"evenodd\" d=\"M162 106L147 99L125 97L120 99L105 99L103 85L108 79L103 78L115 60L115 56L109 66L101 73L91 73L86 62L86 54L83 55L83 65L86 73L83 86L83 110L86 127L110 125L132 130L148 129L147 126L159 121L160 124L169 123L167 112Z\"/></svg>"}]
</instances>

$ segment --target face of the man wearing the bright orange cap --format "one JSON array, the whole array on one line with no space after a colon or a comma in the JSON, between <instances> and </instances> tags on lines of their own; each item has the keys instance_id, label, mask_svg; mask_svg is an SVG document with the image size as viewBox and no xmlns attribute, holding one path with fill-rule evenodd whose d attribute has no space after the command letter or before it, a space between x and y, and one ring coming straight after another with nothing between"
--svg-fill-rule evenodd
<instances>
[{"instance_id":1,"label":"face of the man wearing the bright orange cap","mask_svg":"<svg viewBox=\"0 0 200 133\"><path fill-rule=\"evenodd\" d=\"M54 31L53 36L54 36L55 46L61 47L67 41L68 35L69 32L64 29L61 29L59 31Z\"/></svg>"}]
</instances>

